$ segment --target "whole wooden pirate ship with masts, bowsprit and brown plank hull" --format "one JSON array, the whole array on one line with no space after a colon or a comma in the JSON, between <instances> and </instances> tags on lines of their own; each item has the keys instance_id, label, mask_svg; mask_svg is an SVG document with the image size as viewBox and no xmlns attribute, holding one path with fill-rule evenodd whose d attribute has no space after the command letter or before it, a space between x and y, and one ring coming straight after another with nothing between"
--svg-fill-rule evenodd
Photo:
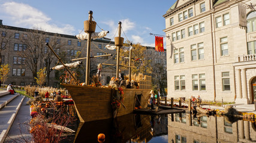
<instances>
[{"instance_id":1,"label":"whole wooden pirate ship with masts, bowsprit and brown plank hull","mask_svg":"<svg viewBox=\"0 0 256 143\"><path fill-rule=\"evenodd\" d=\"M144 81L141 81L139 89L128 88L101 88L93 87L89 85L89 67L90 67L90 47L91 47L91 35L95 32L96 22L92 21L92 11L89 11L89 20L84 22L85 32L87 39L87 57L86 59L86 79L85 86L82 86L77 80L77 85L62 84L67 88L71 97L76 105L77 113L81 122L90 122L92 120L110 119L112 117L123 116L125 114L132 113L135 105L139 105L141 108L147 107L147 101L149 99L149 92L151 89L151 77L145 76ZM116 62L116 77L119 76L119 50L124 43L124 38L121 37L121 22L119 22L119 36L115 37L115 45L117 51ZM48 44L47 44L48 45ZM49 46L49 45L48 45ZM56 55L53 49L53 54ZM106 56L106 55L102 55ZM81 58L80 58L81 59ZM129 81L131 81L131 52L129 57ZM61 61L62 63L62 61ZM67 64L62 63L64 68L70 73L67 68ZM75 79L75 78L74 78Z\"/></svg>"}]
</instances>

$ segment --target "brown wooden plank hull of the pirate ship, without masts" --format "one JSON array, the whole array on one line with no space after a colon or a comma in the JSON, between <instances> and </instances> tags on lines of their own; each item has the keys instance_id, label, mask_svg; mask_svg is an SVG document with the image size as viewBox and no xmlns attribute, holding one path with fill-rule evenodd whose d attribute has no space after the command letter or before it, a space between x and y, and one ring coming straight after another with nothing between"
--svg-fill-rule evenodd
<instances>
[{"instance_id":1,"label":"brown wooden plank hull of the pirate ship, without masts","mask_svg":"<svg viewBox=\"0 0 256 143\"><path fill-rule=\"evenodd\" d=\"M91 86L64 85L70 93L77 113L85 122L104 120L113 117L112 88L97 88ZM147 107L150 89L124 89L124 102L118 109L117 116L130 114L136 101L141 108ZM137 99L137 100L136 100Z\"/></svg>"}]
</instances>

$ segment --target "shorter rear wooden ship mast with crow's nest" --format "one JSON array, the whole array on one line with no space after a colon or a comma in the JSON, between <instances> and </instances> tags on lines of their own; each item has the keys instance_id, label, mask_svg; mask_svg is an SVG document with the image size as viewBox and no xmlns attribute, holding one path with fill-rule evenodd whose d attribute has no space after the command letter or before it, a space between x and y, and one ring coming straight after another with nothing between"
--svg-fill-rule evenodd
<instances>
[{"instance_id":1,"label":"shorter rear wooden ship mast with crow's nest","mask_svg":"<svg viewBox=\"0 0 256 143\"><path fill-rule=\"evenodd\" d=\"M116 58L116 78L119 77L119 54L120 54L120 48L123 46L124 44L124 38L121 37L121 24L122 22L119 21L118 23L118 37L115 37L115 45L118 48L118 54L117 54L117 58Z\"/></svg>"}]
</instances>

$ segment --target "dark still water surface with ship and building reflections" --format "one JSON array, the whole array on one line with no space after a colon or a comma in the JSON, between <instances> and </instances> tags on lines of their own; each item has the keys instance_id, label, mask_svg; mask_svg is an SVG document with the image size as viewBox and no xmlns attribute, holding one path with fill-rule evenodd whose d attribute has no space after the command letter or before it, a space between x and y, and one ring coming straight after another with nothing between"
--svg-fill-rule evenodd
<instances>
[{"instance_id":1,"label":"dark still water surface with ship and building reflections","mask_svg":"<svg viewBox=\"0 0 256 143\"><path fill-rule=\"evenodd\" d=\"M85 122L76 142L256 142L256 123L228 117L186 113L149 116L128 114L118 119Z\"/></svg>"}]
</instances>

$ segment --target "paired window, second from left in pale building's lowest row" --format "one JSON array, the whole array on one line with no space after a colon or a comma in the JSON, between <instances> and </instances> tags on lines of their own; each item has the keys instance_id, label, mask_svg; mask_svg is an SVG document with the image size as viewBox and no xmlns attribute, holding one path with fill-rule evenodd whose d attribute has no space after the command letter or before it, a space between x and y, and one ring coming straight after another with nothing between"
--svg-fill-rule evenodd
<instances>
[{"instance_id":1,"label":"paired window, second from left in pale building's lowest row","mask_svg":"<svg viewBox=\"0 0 256 143\"><path fill-rule=\"evenodd\" d=\"M192 90L206 91L205 74L192 74Z\"/></svg>"}]
</instances>

